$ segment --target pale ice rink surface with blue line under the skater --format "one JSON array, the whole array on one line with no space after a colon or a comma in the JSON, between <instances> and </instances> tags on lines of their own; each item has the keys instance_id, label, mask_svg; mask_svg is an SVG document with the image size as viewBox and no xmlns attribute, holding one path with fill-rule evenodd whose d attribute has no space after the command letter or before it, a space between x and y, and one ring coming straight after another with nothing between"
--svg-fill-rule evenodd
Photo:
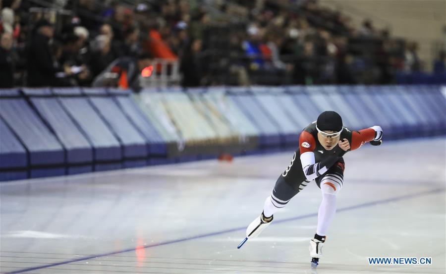
<instances>
[{"instance_id":1,"label":"pale ice rink surface with blue line under the skater","mask_svg":"<svg viewBox=\"0 0 446 274\"><path fill-rule=\"evenodd\" d=\"M1 273L446 273L445 138L344 156L324 258L310 268L314 182L258 238L293 152L1 183ZM432 265L369 265L431 257Z\"/></svg>"}]
</instances>

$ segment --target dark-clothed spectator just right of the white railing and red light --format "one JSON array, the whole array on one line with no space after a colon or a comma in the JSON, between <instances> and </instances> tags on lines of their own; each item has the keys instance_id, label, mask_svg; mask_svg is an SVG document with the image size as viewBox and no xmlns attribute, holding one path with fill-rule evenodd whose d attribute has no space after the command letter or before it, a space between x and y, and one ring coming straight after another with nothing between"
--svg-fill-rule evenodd
<instances>
[{"instance_id":1,"label":"dark-clothed spectator just right of the white railing and red light","mask_svg":"<svg viewBox=\"0 0 446 274\"><path fill-rule=\"evenodd\" d=\"M203 82L201 43L200 39L191 40L180 60L180 71L183 73L181 85L183 87L197 87Z\"/></svg>"}]
</instances>

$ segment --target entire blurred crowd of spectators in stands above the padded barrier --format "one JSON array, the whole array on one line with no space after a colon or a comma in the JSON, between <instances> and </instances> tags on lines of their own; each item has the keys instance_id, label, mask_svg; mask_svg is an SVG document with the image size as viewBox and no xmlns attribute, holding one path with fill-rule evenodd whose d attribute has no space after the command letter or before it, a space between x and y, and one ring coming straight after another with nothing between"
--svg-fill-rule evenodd
<instances>
[{"instance_id":1,"label":"entire blurred crowd of spectators in stands above the padded barrier","mask_svg":"<svg viewBox=\"0 0 446 274\"><path fill-rule=\"evenodd\" d=\"M178 59L185 87L387 84L423 69L416 43L316 0L0 2L1 87L139 89L154 58Z\"/></svg>"}]
</instances>

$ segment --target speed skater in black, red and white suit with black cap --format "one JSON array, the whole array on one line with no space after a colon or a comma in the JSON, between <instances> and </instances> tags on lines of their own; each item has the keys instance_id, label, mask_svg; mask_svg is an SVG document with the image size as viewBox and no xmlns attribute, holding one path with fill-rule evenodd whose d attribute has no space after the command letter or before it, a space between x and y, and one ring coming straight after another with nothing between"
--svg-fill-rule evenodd
<instances>
[{"instance_id":1,"label":"speed skater in black, red and white suit with black cap","mask_svg":"<svg viewBox=\"0 0 446 274\"><path fill-rule=\"evenodd\" d=\"M335 111L322 112L317 121L309 124L300 134L299 148L288 167L279 176L271 196L268 196L262 214L246 229L246 238L257 237L272 221L273 214L312 180L322 191L322 202L318 212L318 225L314 238L310 240L312 264L317 266L322 257L326 232L336 212L336 195L343 186L345 153L360 148L364 143L380 145L383 130L373 126L351 131L342 125L341 116Z\"/></svg>"}]
</instances>

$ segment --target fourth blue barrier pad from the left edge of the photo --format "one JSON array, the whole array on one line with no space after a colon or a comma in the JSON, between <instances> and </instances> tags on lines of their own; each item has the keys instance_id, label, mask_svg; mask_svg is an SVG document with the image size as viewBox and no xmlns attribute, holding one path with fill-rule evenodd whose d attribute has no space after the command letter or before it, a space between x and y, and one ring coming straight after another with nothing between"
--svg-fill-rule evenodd
<instances>
[{"instance_id":1,"label":"fourth blue barrier pad from the left edge of the photo","mask_svg":"<svg viewBox=\"0 0 446 274\"><path fill-rule=\"evenodd\" d=\"M120 163L111 163L122 159L120 144L87 98L81 97L81 90L56 88L53 93L59 95L61 106L93 146L95 170L120 168Z\"/></svg>"}]
</instances>

